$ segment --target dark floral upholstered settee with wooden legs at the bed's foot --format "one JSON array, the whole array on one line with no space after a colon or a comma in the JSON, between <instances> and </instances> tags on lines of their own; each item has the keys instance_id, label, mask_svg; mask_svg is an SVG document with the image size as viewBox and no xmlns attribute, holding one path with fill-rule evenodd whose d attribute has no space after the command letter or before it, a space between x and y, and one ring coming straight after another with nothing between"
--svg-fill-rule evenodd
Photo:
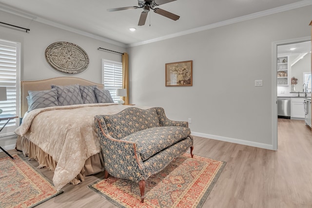
<instances>
[{"instance_id":1,"label":"dark floral upholstered settee with wooden legs at the bed's foot","mask_svg":"<svg viewBox=\"0 0 312 208\"><path fill-rule=\"evenodd\" d=\"M114 115L96 115L105 173L139 183L144 202L145 180L191 148L188 123L169 120L163 108L127 108Z\"/></svg>"}]
</instances>

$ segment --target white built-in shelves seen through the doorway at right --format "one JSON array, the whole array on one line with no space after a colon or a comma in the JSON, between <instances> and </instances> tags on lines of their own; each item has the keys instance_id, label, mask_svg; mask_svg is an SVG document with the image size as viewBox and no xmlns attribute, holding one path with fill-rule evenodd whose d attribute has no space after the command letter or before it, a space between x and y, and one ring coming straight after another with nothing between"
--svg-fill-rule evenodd
<instances>
[{"instance_id":1,"label":"white built-in shelves seen through the doorway at right","mask_svg":"<svg viewBox=\"0 0 312 208\"><path fill-rule=\"evenodd\" d=\"M290 64L288 57L277 58L277 85L288 86L290 85Z\"/></svg>"}]
</instances>

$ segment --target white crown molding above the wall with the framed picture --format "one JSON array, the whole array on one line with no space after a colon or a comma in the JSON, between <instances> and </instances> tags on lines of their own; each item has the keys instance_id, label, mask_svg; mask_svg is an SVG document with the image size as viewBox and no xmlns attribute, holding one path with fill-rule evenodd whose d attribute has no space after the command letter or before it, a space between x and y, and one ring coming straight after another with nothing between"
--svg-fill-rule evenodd
<instances>
[{"instance_id":1,"label":"white crown molding above the wall with the framed picture","mask_svg":"<svg viewBox=\"0 0 312 208\"><path fill-rule=\"evenodd\" d=\"M155 39L150 39L150 40L146 40L146 41L142 41L142 42L128 44L127 47L134 47L134 46L144 45L144 44L157 42L157 41L165 40L165 39L169 39L169 38L176 38L176 37L179 37L179 36L184 36L184 35L188 35L188 34L192 34L192 33L197 33L197 32L200 32L200 31L209 30L209 29L213 29L213 28L217 28L217 27L222 27L222 26L225 26L225 25L234 24L234 23L238 23L238 22L242 22L242 21L246 21L246 20L250 20L250 19L261 18L261 17L265 17L265 16L268 16L268 15L273 15L273 14L276 14L276 13L285 12L285 11L288 11L288 10L297 9L297 8L304 7L304 6L309 6L309 5L312 5L312 0L302 0L302 1L295 2L295 3L287 4L287 5L284 5L284 6L276 7L276 8L273 8L273 9L268 9L268 10L265 10L265 11L262 11L262 12L256 12L256 13L253 13L253 14L250 14L250 15L241 16L241 17L238 17L238 18L227 19L227 20L224 20L224 21L216 22L216 23L205 25L205 26L202 26L202 27L197 27L197 28L190 29L190 30L185 30L185 31L182 31L182 32L170 34L170 35L159 37L159 38L155 38Z\"/></svg>"}]
</instances>

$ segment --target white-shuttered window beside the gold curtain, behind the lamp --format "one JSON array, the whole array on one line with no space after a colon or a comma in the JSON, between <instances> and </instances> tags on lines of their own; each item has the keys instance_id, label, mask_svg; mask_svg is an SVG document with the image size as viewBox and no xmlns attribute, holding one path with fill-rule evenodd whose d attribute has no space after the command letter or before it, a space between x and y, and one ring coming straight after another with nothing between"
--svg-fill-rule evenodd
<instances>
[{"instance_id":1,"label":"white-shuttered window beside the gold curtain, behind the lamp","mask_svg":"<svg viewBox=\"0 0 312 208\"><path fill-rule=\"evenodd\" d=\"M102 59L102 80L104 89L117 102L120 97L116 96L116 89L122 88L122 63Z\"/></svg>"}]
</instances>

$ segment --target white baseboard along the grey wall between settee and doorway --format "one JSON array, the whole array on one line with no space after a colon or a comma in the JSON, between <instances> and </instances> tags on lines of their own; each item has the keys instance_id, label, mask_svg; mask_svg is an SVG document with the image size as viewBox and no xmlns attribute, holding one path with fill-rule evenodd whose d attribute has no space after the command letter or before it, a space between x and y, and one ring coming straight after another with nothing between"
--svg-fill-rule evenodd
<instances>
[{"instance_id":1,"label":"white baseboard along the grey wall between settee and doorway","mask_svg":"<svg viewBox=\"0 0 312 208\"><path fill-rule=\"evenodd\" d=\"M229 137L225 137L225 136L217 136L217 135L212 135L212 134L207 134L207 133L199 133L199 132L192 132L192 135L204 137L204 138L208 138L208 139L215 139L215 140L224 141L224 142L231 142L231 143L235 143L235 144L258 147L258 148L262 148L262 149L274 150L273 145L263 144L263 143L259 143L259 142L251 142L251 141L246 141L246 140L242 140L242 139L234 139L234 138L229 138Z\"/></svg>"}]
</instances>

